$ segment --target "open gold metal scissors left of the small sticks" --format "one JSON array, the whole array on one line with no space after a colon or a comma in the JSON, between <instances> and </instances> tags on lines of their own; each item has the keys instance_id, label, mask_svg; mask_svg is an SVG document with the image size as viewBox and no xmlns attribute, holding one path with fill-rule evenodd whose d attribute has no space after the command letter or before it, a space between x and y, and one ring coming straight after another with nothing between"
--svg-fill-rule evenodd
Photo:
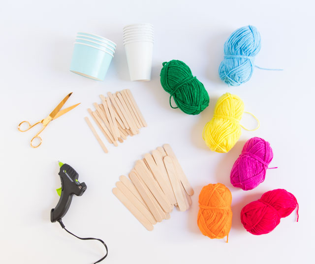
<instances>
[{"instance_id":1,"label":"open gold metal scissors left of the small sticks","mask_svg":"<svg viewBox=\"0 0 315 264\"><path fill-rule=\"evenodd\" d=\"M35 148L35 147L39 147L39 146L40 146L42 140L41 140L41 138L40 138L38 135L45 129L45 127L50 123L50 121L55 120L55 119L58 118L58 117L61 117L63 114L69 112L70 110L72 110L73 108L75 108L76 106L78 106L78 105L80 104L80 103L78 103L78 104L76 104L76 105L70 106L70 107L68 107L68 108L65 108L65 109L59 111L59 110L63 107L64 103L69 99L69 97L70 97L71 94L72 94L72 92L70 92L67 96L65 96L65 97L63 98L63 100L59 103L59 105L53 110L53 112L51 112L51 113L49 114L48 117L46 117L46 118L44 118L44 119L38 121L37 123L34 123L33 125L31 125L31 123L30 123L29 121L22 121L22 122L18 125L18 130L19 130L19 131L21 131L21 132L26 132L26 131L28 131L29 129L31 129L33 126L35 126L35 125L37 125L37 124L39 124L39 123L42 123L42 124L43 124L42 129L40 129L40 130L38 131L38 133L32 138L32 140L31 140L31 147L34 147L34 148ZM22 130L22 129L20 128L20 126L21 126L23 123L27 123L28 126L29 126L29 127L28 127L27 129L25 129L25 130ZM38 145L34 146L32 143L33 143L33 140L36 139L36 138L39 139L40 142L39 142Z\"/></svg>"}]
</instances>

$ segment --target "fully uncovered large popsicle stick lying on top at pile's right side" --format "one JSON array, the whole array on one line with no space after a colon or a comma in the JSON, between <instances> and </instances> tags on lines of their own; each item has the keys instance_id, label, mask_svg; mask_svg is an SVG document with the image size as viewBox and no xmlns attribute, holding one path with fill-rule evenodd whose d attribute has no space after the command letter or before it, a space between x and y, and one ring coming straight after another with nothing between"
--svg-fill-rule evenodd
<instances>
[{"instance_id":1,"label":"fully uncovered large popsicle stick lying on top at pile's right side","mask_svg":"<svg viewBox=\"0 0 315 264\"><path fill-rule=\"evenodd\" d=\"M174 161L170 156L165 156L163 160L164 160L164 164L165 164L168 176L171 180L171 184L172 184L173 191L176 197L177 205L180 211L186 211L186 204L185 204L185 200L181 191L180 182L178 181L177 176L176 176Z\"/></svg>"}]
</instances>

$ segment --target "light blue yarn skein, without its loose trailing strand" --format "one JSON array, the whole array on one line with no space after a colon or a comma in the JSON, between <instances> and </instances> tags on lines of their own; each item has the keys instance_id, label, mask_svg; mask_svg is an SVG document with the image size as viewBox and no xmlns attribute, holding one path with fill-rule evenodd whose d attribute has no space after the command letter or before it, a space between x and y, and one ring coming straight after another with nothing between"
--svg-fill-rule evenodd
<instances>
[{"instance_id":1,"label":"light blue yarn skein, without its loose trailing strand","mask_svg":"<svg viewBox=\"0 0 315 264\"><path fill-rule=\"evenodd\" d=\"M231 86L240 86L249 81L260 46L260 34L255 27L236 29L224 43L224 59L219 67L220 79Z\"/></svg>"}]
</instances>

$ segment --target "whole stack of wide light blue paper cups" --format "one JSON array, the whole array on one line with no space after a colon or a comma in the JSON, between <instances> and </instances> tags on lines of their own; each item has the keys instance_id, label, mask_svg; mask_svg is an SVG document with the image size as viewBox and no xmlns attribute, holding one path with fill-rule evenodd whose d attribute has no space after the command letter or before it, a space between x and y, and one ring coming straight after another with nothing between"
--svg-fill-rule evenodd
<instances>
[{"instance_id":1,"label":"whole stack of wide light blue paper cups","mask_svg":"<svg viewBox=\"0 0 315 264\"><path fill-rule=\"evenodd\" d=\"M116 44L104 37L78 32L74 42L70 71L103 81L114 58Z\"/></svg>"}]
</instances>

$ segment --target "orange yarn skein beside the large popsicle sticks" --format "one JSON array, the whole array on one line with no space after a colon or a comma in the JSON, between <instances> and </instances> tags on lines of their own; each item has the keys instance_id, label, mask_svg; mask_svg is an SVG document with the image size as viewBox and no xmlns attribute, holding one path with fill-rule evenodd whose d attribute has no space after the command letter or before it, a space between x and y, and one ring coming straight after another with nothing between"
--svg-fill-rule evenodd
<instances>
[{"instance_id":1,"label":"orange yarn skein beside the large popsicle sticks","mask_svg":"<svg viewBox=\"0 0 315 264\"><path fill-rule=\"evenodd\" d=\"M213 238L227 236L232 226L232 194L222 183L209 184L199 194L198 227L203 235Z\"/></svg>"}]
</instances>

